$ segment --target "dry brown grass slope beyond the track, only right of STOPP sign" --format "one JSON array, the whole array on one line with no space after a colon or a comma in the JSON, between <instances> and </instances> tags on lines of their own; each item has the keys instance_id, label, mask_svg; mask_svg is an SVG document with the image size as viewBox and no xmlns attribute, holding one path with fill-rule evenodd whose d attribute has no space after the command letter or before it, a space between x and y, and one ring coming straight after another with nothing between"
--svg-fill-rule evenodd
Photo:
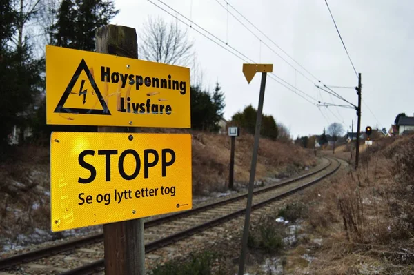
<instances>
[{"instance_id":1,"label":"dry brown grass slope beyond the track, only right of STOPP sign","mask_svg":"<svg viewBox=\"0 0 414 275\"><path fill-rule=\"evenodd\" d=\"M235 175L237 183L246 185L250 176L253 136L244 135L235 141ZM226 135L193 133L193 194L203 190L226 190L230 163L230 138ZM296 145L260 139L256 181L279 174L294 174L316 159Z\"/></svg>"}]
</instances>

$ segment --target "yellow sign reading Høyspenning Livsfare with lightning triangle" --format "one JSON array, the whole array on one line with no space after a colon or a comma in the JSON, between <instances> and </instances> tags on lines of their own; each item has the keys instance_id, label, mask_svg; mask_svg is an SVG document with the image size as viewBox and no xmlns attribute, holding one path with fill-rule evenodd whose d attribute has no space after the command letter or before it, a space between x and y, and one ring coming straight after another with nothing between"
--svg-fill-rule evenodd
<instances>
[{"instance_id":1,"label":"yellow sign reading H\u00f8yspenning Livsfare with lightning triangle","mask_svg":"<svg viewBox=\"0 0 414 275\"><path fill-rule=\"evenodd\" d=\"M46 123L190 128L190 70L47 45Z\"/></svg>"}]
</instances>

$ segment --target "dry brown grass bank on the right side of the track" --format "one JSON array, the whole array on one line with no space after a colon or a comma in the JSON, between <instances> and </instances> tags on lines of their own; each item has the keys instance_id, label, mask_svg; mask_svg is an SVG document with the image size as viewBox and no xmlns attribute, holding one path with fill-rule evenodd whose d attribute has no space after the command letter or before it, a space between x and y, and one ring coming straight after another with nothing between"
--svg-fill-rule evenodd
<instances>
[{"instance_id":1,"label":"dry brown grass bank on the right side of the track","mask_svg":"<svg viewBox=\"0 0 414 275\"><path fill-rule=\"evenodd\" d=\"M413 274L413 186L414 137L404 137L369 147L359 170L309 194L322 198L308 223L324 238L310 274Z\"/></svg>"}]
</instances>

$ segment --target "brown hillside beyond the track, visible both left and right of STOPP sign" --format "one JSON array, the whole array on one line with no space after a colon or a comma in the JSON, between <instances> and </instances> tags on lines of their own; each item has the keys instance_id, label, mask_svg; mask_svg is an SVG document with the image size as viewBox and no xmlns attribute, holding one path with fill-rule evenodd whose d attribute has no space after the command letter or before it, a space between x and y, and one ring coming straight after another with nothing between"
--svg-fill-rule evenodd
<instances>
[{"instance_id":1,"label":"brown hillside beyond the track, visible both left and right of STOPP sign","mask_svg":"<svg viewBox=\"0 0 414 275\"><path fill-rule=\"evenodd\" d=\"M175 132L175 131L171 131ZM193 195L195 198L227 192L230 138L193 132ZM248 184L253 136L237 137L235 143L235 188ZM284 178L316 165L315 157L292 144L261 139L256 181ZM66 236L101 230L101 226L50 232L49 147L17 147L8 161L0 163L0 251ZM222 194L226 195L226 194Z\"/></svg>"}]
</instances>

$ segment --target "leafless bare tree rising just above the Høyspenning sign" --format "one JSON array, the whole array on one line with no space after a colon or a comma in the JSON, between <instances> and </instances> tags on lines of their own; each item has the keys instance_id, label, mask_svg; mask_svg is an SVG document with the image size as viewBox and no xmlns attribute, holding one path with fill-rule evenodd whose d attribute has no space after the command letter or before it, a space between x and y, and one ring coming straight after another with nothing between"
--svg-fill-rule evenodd
<instances>
[{"instance_id":1,"label":"leafless bare tree rising just above the H\u00f8yspenning sign","mask_svg":"<svg viewBox=\"0 0 414 275\"><path fill-rule=\"evenodd\" d=\"M140 36L139 58L171 65L187 66L193 57L193 41L177 21L169 24L161 17L148 17Z\"/></svg>"}]
</instances>

